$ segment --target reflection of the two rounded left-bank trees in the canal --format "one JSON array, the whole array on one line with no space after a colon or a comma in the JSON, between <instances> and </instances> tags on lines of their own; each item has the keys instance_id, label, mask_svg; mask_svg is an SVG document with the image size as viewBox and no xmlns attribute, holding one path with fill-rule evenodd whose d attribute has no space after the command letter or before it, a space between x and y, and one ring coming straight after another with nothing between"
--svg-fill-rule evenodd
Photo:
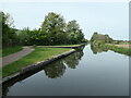
<instances>
[{"instance_id":1,"label":"reflection of the two rounded left-bank trees in the canal","mask_svg":"<svg viewBox=\"0 0 131 98\"><path fill-rule=\"evenodd\" d=\"M57 78L63 76L67 68L76 69L81 58L84 54L83 49L84 47L78 49L75 53L72 53L71 56L57 60L56 62L52 62L51 64L47 65L44 69L45 74L49 78Z\"/></svg>"}]
</instances>

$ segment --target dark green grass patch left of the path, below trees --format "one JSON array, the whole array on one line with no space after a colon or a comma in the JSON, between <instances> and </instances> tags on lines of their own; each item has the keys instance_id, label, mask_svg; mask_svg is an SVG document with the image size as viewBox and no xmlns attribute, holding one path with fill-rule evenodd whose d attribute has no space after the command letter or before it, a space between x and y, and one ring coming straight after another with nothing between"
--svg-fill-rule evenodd
<instances>
[{"instance_id":1,"label":"dark green grass patch left of the path, below trees","mask_svg":"<svg viewBox=\"0 0 131 98\"><path fill-rule=\"evenodd\" d=\"M2 57L9 56L11 53L17 52L20 50L22 50L23 48L21 46L16 46L16 47L9 47L9 48L3 48L2 50Z\"/></svg>"}]
</instances>

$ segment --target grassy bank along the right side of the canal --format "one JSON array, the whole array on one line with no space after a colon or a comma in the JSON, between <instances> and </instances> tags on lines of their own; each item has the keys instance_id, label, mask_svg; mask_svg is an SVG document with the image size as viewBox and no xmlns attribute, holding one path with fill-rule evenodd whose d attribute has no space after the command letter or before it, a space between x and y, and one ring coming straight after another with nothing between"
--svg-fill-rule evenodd
<instances>
[{"instance_id":1,"label":"grassy bank along the right side of the canal","mask_svg":"<svg viewBox=\"0 0 131 98\"><path fill-rule=\"evenodd\" d=\"M109 49L118 53L131 56L131 49L130 48L124 48L124 47L119 47L116 45L102 45L103 49Z\"/></svg>"}]
</instances>

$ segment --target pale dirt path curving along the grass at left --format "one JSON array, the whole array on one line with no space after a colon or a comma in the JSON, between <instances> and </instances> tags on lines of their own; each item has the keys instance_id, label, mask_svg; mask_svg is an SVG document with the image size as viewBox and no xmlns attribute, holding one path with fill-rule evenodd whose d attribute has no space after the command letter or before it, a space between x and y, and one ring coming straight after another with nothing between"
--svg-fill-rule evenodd
<instances>
[{"instance_id":1,"label":"pale dirt path curving along the grass at left","mask_svg":"<svg viewBox=\"0 0 131 98\"><path fill-rule=\"evenodd\" d=\"M7 57L2 58L2 66L12 63L14 61L17 61L19 59L21 59L22 57L31 53L34 49L31 47L23 47L24 49L22 51L9 54ZM1 59L1 58L0 58Z\"/></svg>"}]
</instances>

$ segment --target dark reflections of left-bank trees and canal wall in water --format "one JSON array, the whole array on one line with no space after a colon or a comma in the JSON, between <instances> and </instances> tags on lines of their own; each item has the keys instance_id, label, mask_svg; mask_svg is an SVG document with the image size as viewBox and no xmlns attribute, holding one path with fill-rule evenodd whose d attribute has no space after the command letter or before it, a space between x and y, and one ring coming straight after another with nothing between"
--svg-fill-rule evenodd
<instances>
[{"instance_id":1,"label":"dark reflections of left-bank trees and canal wall in water","mask_svg":"<svg viewBox=\"0 0 131 98\"><path fill-rule=\"evenodd\" d=\"M76 69L76 66L79 65L79 62L81 60L81 58L83 57L83 49L79 48L78 51L75 53L72 53L63 59L57 60L56 62L52 62L51 64L44 66L44 71L45 74L49 77L49 78L57 78L57 77L61 77L63 76L66 69L70 68L70 69ZM5 97L9 88L15 84L16 82L23 81L24 78L37 73L41 71L41 69L38 69L36 71L34 71L33 73L28 73L26 75L20 76L15 79L12 79L11 82L9 82L8 84L2 85L2 97Z\"/></svg>"}]
</instances>

